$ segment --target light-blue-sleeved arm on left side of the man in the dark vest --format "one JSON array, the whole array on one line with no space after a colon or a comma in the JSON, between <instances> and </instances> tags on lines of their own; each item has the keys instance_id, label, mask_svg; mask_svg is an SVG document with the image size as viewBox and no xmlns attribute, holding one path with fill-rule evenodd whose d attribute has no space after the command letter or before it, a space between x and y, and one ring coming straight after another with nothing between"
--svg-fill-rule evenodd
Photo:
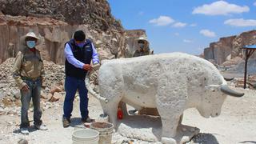
<instances>
[{"instance_id":1,"label":"light-blue-sleeved arm on left side of the man in the dark vest","mask_svg":"<svg viewBox=\"0 0 256 144\"><path fill-rule=\"evenodd\" d=\"M85 64L83 62L78 61L78 59L74 58L74 54L72 53L72 50L68 44L66 44L65 46L64 53L67 61L70 62L71 65L83 69L82 66L84 66Z\"/></svg>"}]
</instances>

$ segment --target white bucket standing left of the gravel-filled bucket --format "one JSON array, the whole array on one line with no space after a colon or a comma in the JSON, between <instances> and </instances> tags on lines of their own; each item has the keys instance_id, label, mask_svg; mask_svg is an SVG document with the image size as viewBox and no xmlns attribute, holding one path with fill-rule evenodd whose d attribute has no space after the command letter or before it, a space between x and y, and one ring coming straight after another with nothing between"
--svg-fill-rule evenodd
<instances>
[{"instance_id":1,"label":"white bucket standing left of the gravel-filled bucket","mask_svg":"<svg viewBox=\"0 0 256 144\"><path fill-rule=\"evenodd\" d=\"M97 130L74 130L72 134L73 144L98 144L99 133Z\"/></svg>"}]
</instances>

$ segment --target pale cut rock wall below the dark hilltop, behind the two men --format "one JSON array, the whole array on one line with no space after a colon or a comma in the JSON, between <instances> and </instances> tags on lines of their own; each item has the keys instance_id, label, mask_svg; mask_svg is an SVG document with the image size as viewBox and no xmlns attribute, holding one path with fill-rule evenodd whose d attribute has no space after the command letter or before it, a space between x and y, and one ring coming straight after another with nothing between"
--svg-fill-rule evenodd
<instances>
[{"instance_id":1,"label":"pale cut rock wall below the dark hilltop, behind the two men","mask_svg":"<svg viewBox=\"0 0 256 144\"><path fill-rule=\"evenodd\" d=\"M64 45L75 30L84 30L98 50L100 59L124 58L134 50L135 39L146 34L145 30L98 31L91 26L70 25L53 18L36 18L0 14L0 63L15 57L20 50L20 38L29 31L41 37L38 49L44 59L58 64L65 62Z\"/></svg>"}]
</instances>

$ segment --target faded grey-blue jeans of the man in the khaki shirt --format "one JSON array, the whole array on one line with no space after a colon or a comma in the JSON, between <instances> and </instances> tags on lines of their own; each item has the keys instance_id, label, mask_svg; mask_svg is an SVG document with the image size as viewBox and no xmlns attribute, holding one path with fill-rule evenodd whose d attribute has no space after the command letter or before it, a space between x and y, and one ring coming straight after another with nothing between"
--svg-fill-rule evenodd
<instances>
[{"instance_id":1,"label":"faded grey-blue jeans of the man in the khaki shirt","mask_svg":"<svg viewBox=\"0 0 256 144\"><path fill-rule=\"evenodd\" d=\"M30 109L30 100L32 98L34 106L34 125L40 126L42 124L42 110L40 108L40 96L41 96L41 80L23 80L29 86L28 91L21 90L22 94L22 116L21 116L21 128L30 126L28 118L28 110Z\"/></svg>"}]
</instances>

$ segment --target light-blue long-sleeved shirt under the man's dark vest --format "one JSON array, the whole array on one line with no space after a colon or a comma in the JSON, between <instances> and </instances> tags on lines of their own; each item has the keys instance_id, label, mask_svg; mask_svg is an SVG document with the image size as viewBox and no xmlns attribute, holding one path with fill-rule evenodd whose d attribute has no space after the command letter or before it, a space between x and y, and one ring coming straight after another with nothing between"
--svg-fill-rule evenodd
<instances>
[{"instance_id":1,"label":"light-blue long-sleeved shirt under the man's dark vest","mask_svg":"<svg viewBox=\"0 0 256 144\"><path fill-rule=\"evenodd\" d=\"M92 45L92 49L93 49L92 61L94 64L97 64L97 63L99 63L98 53L94 47L94 44L91 43L91 45ZM80 69L82 69L82 66L85 65L85 63L80 62L77 58L74 58L74 54L70 48L70 45L68 45L68 44L66 44L66 46L65 46L64 54L65 54L67 61L70 62L71 65L73 65L77 68L80 68Z\"/></svg>"}]
</instances>

